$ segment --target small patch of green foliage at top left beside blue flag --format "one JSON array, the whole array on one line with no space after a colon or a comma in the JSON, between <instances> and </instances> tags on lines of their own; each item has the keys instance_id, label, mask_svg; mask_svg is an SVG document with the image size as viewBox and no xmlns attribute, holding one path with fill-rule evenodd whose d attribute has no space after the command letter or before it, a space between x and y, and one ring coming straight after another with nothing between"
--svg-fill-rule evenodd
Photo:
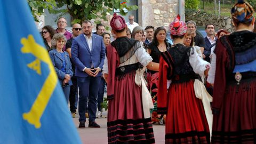
<instances>
[{"instance_id":1,"label":"small patch of green foliage at top left beside blue flag","mask_svg":"<svg viewBox=\"0 0 256 144\"><path fill-rule=\"evenodd\" d=\"M51 11L54 6L57 6L54 0L27 0L27 2L29 4L31 14L37 22L39 22L38 17L44 14L44 9Z\"/></svg>"}]
</instances>

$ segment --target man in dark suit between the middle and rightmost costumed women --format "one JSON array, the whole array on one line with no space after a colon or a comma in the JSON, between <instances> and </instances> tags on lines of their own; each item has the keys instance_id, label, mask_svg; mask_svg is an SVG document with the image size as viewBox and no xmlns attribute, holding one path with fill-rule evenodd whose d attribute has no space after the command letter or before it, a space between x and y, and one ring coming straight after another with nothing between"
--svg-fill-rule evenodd
<instances>
[{"instance_id":1,"label":"man in dark suit between the middle and rightmost costumed women","mask_svg":"<svg viewBox=\"0 0 256 144\"><path fill-rule=\"evenodd\" d=\"M205 41L205 49L204 55L206 61L210 62L210 54L211 48L215 45L217 38L215 37L215 29L212 23L209 23L205 26L206 37L204 38Z\"/></svg>"}]
</instances>

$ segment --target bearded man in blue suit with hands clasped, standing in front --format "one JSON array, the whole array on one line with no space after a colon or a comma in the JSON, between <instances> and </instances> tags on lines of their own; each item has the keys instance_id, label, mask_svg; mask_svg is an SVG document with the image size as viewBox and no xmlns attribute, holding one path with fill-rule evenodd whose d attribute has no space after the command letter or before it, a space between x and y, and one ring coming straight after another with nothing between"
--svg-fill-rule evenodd
<instances>
[{"instance_id":1,"label":"bearded man in blue suit with hands clasped, standing in front","mask_svg":"<svg viewBox=\"0 0 256 144\"><path fill-rule=\"evenodd\" d=\"M101 78L105 45L99 35L92 34L91 21L83 21L83 34L75 37L71 46L72 60L76 65L75 76L79 87L79 128L85 128L85 111L88 101L89 127L100 128L95 122L97 94Z\"/></svg>"}]
</instances>

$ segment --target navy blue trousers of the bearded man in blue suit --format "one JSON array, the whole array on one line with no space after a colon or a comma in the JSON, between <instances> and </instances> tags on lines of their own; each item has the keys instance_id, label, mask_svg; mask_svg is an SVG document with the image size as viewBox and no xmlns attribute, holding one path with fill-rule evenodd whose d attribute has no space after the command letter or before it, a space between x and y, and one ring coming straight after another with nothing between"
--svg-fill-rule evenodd
<instances>
[{"instance_id":1,"label":"navy blue trousers of the bearded man in blue suit","mask_svg":"<svg viewBox=\"0 0 256 144\"><path fill-rule=\"evenodd\" d=\"M85 122L86 106L88 105L89 121L94 121L97 111L97 95L101 77L77 77L79 87L78 113L79 122ZM88 101L87 101L88 99Z\"/></svg>"}]
</instances>

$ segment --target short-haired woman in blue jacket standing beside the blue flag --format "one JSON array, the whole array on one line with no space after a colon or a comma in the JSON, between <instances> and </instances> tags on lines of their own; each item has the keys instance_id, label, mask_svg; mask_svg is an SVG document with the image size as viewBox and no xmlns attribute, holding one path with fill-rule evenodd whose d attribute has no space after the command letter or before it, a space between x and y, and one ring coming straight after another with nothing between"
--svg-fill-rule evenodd
<instances>
[{"instance_id":1,"label":"short-haired woman in blue jacket standing beside the blue flag","mask_svg":"<svg viewBox=\"0 0 256 144\"><path fill-rule=\"evenodd\" d=\"M59 82L62 85L62 90L68 104L70 86L73 84L71 82L73 70L68 53L66 51L63 51L63 47L66 42L67 39L63 34L55 34L52 38L53 50L49 52L49 55L52 60L52 64L54 66L56 74L59 78Z\"/></svg>"}]
</instances>

